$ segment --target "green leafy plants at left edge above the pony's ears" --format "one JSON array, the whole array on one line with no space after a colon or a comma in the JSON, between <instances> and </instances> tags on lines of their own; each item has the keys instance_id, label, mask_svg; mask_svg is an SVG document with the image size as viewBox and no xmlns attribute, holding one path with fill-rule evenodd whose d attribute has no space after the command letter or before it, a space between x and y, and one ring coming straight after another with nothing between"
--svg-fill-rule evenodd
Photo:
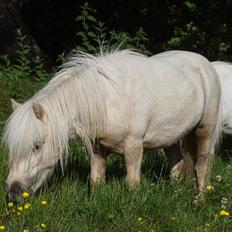
<instances>
[{"instance_id":1,"label":"green leafy plants at left edge above the pony's ears","mask_svg":"<svg viewBox=\"0 0 232 232\"><path fill-rule=\"evenodd\" d=\"M1 87L7 95L21 101L29 98L48 80L44 60L38 56L31 57L32 49L25 39L21 30L17 30L18 56L15 62L7 55L0 57Z\"/></svg>"}]
</instances>

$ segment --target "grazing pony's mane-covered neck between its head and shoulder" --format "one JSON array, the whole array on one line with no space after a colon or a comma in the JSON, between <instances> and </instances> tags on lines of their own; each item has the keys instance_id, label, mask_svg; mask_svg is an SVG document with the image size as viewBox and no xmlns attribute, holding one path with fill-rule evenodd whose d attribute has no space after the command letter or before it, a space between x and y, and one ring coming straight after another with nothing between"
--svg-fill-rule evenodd
<instances>
[{"instance_id":1,"label":"grazing pony's mane-covered neck between its head and shoulder","mask_svg":"<svg viewBox=\"0 0 232 232\"><path fill-rule=\"evenodd\" d=\"M94 140L105 129L105 76L94 68L59 75L37 95L49 123L57 127L58 136Z\"/></svg>"}]
</instances>

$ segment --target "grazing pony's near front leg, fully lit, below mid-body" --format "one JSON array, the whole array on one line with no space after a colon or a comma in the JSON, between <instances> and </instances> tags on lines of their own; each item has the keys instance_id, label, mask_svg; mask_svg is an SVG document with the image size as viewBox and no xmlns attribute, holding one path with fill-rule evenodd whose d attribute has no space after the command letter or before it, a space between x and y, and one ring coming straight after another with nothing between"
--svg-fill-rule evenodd
<instances>
[{"instance_id":1,"label":"grazing pony's near front leg, fully lit, below mid-body","mask_svg":"<svg viewBox=\"0 0 232 232\"><path fill-rule=\"evenodd\" d=\"M129 188L137 187L140 185L143 142L132 137L128 138L125 142L124 155L127 168L126 183Z\"/></svg>"}]
</instances>

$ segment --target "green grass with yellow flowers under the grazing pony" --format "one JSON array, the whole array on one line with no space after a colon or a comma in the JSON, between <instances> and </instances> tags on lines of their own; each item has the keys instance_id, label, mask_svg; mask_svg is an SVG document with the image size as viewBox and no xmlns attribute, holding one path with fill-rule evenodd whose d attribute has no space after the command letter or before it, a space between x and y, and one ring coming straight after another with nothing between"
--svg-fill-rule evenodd
<instances>
[{"instance_id":1,"label":"green grass with yellow flowers under the grazing pony","mask_svg":"<svg viewBox=\"0 0 232 232\"><path fill-rule=\"evenodd\" d=\"M0 189L0 224L6 227L5 231L232 231L231 216L219 216L223 197L228 199L224 204L226 211L232 213L229 157L216 158L211 183L214 190L206 193L205 203L196 206L192 186L167 177L167 163L161 152L145 155L142 186L130 191L124 185L122 157L109 157L107 184L89 194L88 160L81 145L72 145L71 151L72 162L65 175L62 177L57 171L39 193L14 206L15 212L6 210L6 193ZM4 186L7 162L2 150L0 157L0 183ZM42 200L47 205L42 205ZM18 215L17 207L28 202L32 207ZM41 223L46 228L41 228Z\"/></svg>"}]
</instances>

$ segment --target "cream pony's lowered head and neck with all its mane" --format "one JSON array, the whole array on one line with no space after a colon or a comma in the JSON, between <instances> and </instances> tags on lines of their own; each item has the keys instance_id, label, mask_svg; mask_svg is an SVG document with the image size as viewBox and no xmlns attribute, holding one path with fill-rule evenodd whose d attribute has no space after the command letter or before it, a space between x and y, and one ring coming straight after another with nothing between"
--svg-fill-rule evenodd
<instances>
[{"instance_id":1,"label":"cream pony's lowered head and neck with all its mane","mask_svg":"<svg viewBox=\"0 0 232 232\"><path fill-rule=\"evenodd\" d=\"M19 199L28 188L35 192L57 161L63 168L73 135L80 137L87 151L92 152L91 141L105 130L105 86L113 86L108 80L111 69L106 67L111 68L111 58L118 59L120 54L74 56L23 105L12 100L15 111L3 133L9 151L6 189L10 198Z\"/></svg>"}]
</instances>

